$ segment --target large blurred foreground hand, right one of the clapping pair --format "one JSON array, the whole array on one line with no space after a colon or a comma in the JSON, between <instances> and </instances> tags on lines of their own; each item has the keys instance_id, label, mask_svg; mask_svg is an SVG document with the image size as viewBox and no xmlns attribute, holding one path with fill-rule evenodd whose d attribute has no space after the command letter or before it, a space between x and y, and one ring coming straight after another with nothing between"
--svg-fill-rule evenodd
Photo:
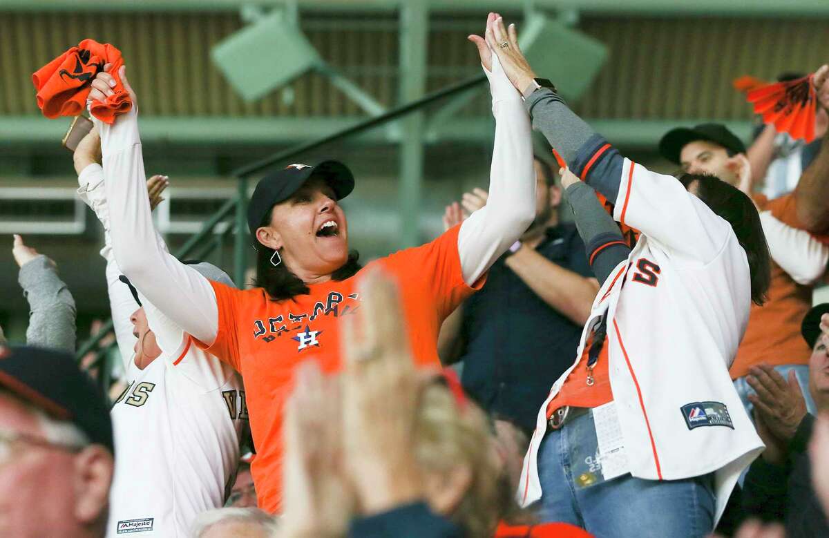
<instances>
[{"instance_id":1,"label":"large blurred foreground hand, right one of the clapping pair","mask_svg":"<svg viewBox=\"0 0 829 538\"><path fill-rule=\"evenodd\" d=\"M358 289L360 309L342 319L342 430L361 512L376 514L424 497L414 455L419 380L397 285L374 271Z\"/></svg>"}]
</instances>

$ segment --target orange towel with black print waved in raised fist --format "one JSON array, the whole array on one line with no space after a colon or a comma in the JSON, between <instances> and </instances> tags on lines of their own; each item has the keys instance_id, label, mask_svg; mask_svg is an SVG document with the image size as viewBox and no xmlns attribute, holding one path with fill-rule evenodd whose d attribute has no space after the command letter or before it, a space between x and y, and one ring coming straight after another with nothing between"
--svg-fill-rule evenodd
<instances>
[{"instance_id":1,"label":"orange towel with black print waved in raised fist","mask_svg":"<svg viewBox=\"0 0 829 538\"><path fill-rule=\"evenodd\" d=\"M86 97L90 95L92 80L104 70L104 65L112 64L109 74L115 79L113 95L102 103L95 101L90 113L101 121L112 124L117 114L128 112L133 106L124 84L118 75L124 59L121 51L109 43L101 45L98 41L85 39L78 46L73 46L32 75L32 83L37 90L37 106L49 119L58 116L77 116L86 106Z\"/></svg>"}]
</instances>

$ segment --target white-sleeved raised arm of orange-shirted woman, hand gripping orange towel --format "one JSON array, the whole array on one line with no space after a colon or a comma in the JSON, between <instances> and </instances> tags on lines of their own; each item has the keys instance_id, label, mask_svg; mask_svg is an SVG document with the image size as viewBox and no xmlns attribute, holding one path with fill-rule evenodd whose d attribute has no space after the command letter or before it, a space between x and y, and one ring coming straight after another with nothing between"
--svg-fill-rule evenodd
<instances>
[{"instance_id":1,"label":"white-sleeved raised arm of orange-shirted woman, hand gripping orange towel","mask_svg":"<svg viewBox=\"0 0 829 538\"><path fill-rule=\"evenodd\" d=\"M124 67L121 67L124 70ZM101 136L104 186L110 235L119 269L138 290L177 326L211 344L216 340L216 294L207 279L182 264L156 240L144 175L138 106L124 73L119 73L133 99L133 108L107 125L94 120ZM105 99L113 77L102 72L93 81L90 99Z\"/></svg>"}]
</instances>

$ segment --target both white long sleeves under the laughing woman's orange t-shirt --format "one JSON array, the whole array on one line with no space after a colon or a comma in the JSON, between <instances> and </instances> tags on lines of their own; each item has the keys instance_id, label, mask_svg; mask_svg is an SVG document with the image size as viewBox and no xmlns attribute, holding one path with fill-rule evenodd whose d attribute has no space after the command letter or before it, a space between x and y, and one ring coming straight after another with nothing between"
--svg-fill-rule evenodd
<instances>
[{"instance_id":1,"label":"both white long sleeves under the laughing woman's orange t-shirt","mask_svg":"<svg viewBox=\"0 0 829 538\"><path fill-rule=\"evenodd\" d=\"M536 210L530 121L497 56L492 61L492 71L484 70L496 119L489 198L487 206L463 222L458 235L463 279L470 285L526 231ZM94 121L101 135L110 211L119 215L110 230L119 268L173 322L201 342L213 342L218 309L211 285L163 250L155 238L137 107L113 125Z\"/></svg>"}]
</instances>

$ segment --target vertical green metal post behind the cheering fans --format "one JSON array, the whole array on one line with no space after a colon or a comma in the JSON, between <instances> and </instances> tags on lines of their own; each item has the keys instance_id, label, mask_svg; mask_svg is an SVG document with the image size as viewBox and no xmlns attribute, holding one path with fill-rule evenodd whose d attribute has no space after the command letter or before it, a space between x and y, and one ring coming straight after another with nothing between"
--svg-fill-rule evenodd
<instances>
[{"instance_id":1,"label":"vertical green metal post behind the cheering fans","mask_svg":"<svg viewBox=\"0 0 829 538\"><path fill-rule=\"evenodd\" d=\"M429 37L428 0L409 0L400 9L400 102L409 103L426 91L426 51ZM423 186L424 113L415 111L400 124L400 242L401 249L419 245Z\"/></svg>"}]
</instances>

